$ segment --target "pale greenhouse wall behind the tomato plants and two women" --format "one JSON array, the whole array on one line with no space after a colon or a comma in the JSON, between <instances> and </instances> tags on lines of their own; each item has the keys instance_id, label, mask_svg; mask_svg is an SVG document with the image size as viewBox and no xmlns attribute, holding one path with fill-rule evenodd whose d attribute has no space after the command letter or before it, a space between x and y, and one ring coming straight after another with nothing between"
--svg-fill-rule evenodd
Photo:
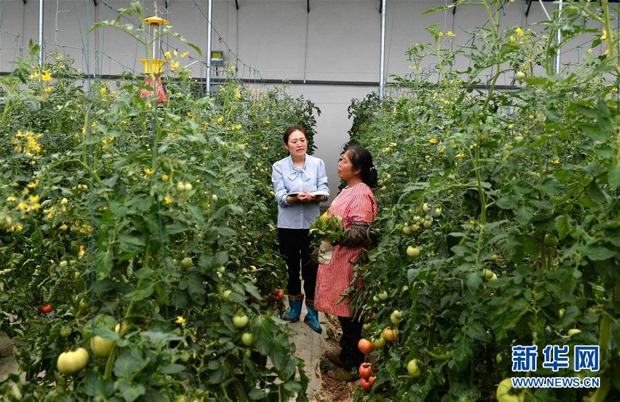
<instances>
[{"instance_id":1,"label":"pale greenhouse wall behind the tomato plants and two women","mask_svg":"<svg viewBox=\"0 0 620 402\"><path fill-rule=\"evenodd\" d=\"M459 6L452 10L422 14L431 8L443 6L446 0L386 0L386 77L402 76L410 72L405 52L414 43L431 40L426 28L438 24L443 32L452 30L457 37L445 46L475 46L466 30L484 26L486 12L479 6ZM379 81L379 46L381 14L378 0L214 0L212 50L224 50L226 61L239 66L243 79L292 79L315 81ZM113 9L127 7L130 1L97 0L44 0L45 50L57 50L73 57L75 65L91 74L119 74L142 70L137 61L145 50L137 41L123 32L102 28L87 33L93 23L114 19ZM141 1L146 15L153 12L152 0ZM208 1L158 0L160 15L174 26L174 31L203 50L200 56L193 50L186 63L205 59L207 38ZM554 3L544 3L552 15ZM616 5L612 5L616 6ZM540 3L533 2L530 14L525 16L527 3L516 0L500 10L503 27L526 26L546 20ZM0 0L0 71L8 72L10 63L26 56L28 41L38 41L39 1ZM124 23L138 23L123 19ZM56 28L57 27L57 28ZM541 26L532 26L541 30ZM574 39L562 54L563 62L574 62L583 57L586 44L593 34ZM446 38L447 39L447 38ZM580 46L581 48L576 48ZM188 46L169 37L165 49L189 50ZM228 49L230 48L230 52ZM572 50L571 50L572 49ZM237 63L236 57L242 63ZM594 49L601 54L602 49ZM86 63L88 59L89 63ZM428 59L423 66L434 63ZM245 66L244 66L245 65ZM456 68L469 65L466 57L458 57ZM194 77L206 77L202 63L192 66ZM538 70L537 70L538 71ZM435 78L436 79L436 78ZM390 79L388 78L388 81ZM512 74L501 77L499 84L510 85ZM321 109L318 117L316 154L326 161L332 184L337 188L336 163L341 145L347 141L350 128L346 109L352 98L362 98L377 86L303 85L290 86L290 93L303 94ZM279 135L279 133L274 133Z\"/></svg>"}]
</instances>

